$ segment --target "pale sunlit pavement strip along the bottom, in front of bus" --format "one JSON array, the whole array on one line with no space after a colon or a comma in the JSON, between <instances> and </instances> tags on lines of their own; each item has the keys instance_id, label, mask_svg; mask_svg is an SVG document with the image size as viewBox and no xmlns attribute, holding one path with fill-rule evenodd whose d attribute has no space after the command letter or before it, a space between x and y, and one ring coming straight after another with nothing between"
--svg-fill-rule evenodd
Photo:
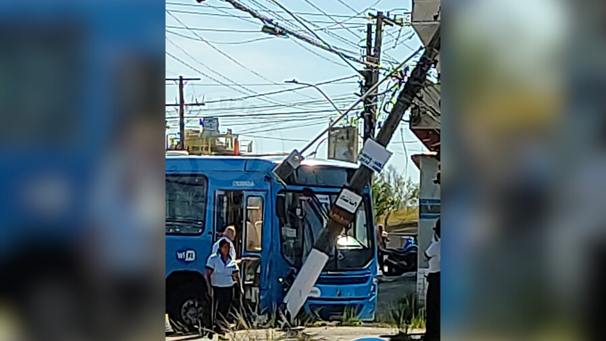
<instances>
[{"instance_id":1,"label":"pale sunlit pavement strip along the bottom, in front of bus","mask_svg":"<svg viewBox=\"0 0 606 341\"><path fill-rule=\"evenodd\" d=\"M420 334L422 331L413 330L411 334ZM347 327L347 326L328 326L304 328L298 333L286 334L273 329L256 329L251 331L237 331L227 334L225 337L233 341L351 341L360 337L381 337L386 340L401 340L398 336L398 329L394 328L373 328L373 327ZM215 336L215 340L217 337ZM208 340L197 336L179 336L167 337L167 341L194 341Z\"/></svg>"}]
</instances>

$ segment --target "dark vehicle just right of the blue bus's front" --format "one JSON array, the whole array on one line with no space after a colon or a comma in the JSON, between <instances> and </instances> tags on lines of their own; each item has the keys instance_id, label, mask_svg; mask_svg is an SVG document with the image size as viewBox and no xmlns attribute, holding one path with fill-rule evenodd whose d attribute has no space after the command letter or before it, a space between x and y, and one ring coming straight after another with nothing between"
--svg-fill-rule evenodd
<instances>
[{"instance_id":1,"label":"dark vehicle just right of the blue bus's front","mask_svg":"<svg viewBox=\"0 0 606 341\"><path fill-rule=\"evenodd\" d=\"M416 245L415 238L408 238L404 246L398 249L381 249L379 257L384 259L385 269L383 274L386 276L399 276L405 272L417 270L419 246Z\"/></svg>"}]
</instances>

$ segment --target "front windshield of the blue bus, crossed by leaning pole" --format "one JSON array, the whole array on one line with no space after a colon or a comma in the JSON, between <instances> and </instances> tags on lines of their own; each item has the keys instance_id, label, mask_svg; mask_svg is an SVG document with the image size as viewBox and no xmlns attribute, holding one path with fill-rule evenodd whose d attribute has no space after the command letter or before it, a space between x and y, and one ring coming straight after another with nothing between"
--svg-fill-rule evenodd
<instances>
[{"instance_id":1,"label":"front windshield of the blue bus, crossed by leaning pole","mask_svg":"<svg viewBox=\"0 0 606 341\"><path fill-rule=\"evenodd\" d=\"M305 191L281 192L277 203L279 207L282 252L288 262L300 267L311 251L311 247L322 234L328 220L330 203L337 194L314 193ZM339 236L333 256L328 260L325 270L345 270L364 268L373 258L373 227L370 219L368 198L356 212L351 224Z\"/></svg>"}]
</instances>

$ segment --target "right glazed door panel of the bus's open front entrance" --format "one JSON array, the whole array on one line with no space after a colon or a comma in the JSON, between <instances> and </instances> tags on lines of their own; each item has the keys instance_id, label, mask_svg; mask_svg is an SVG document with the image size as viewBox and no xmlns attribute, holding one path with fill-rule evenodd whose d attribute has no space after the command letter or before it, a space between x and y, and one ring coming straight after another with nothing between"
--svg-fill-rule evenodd
<instances>
[{"instance_id":1,"label":"right glazed door panel of the bus's open front entrance","mask_svg":"<svg viewBox=\"0 0 606 341\"><path fill-rule=\"evenodd\" d=\"M244 282L244 299L251 305L259 303L262 236L269 223L266 206L267 192L244 192L244 233L240 268Z\"/></svg>"}]
</instances>

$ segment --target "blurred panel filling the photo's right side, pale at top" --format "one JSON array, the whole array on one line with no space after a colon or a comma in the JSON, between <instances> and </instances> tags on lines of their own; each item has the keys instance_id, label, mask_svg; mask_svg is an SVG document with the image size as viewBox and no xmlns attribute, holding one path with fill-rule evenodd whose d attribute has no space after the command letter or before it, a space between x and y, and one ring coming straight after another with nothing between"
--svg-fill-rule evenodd
<instances>
[{"instance_id":1,"label":"blurred panel filling the photo's right side, pale at top","mask_svg":"<svg viewBox=\"0 0 606 341\"><path fill-rule=\"evenodd\" d=\"M603 339L604 2L449 9L442 336Z\"/></svg>"}]
</instances>

